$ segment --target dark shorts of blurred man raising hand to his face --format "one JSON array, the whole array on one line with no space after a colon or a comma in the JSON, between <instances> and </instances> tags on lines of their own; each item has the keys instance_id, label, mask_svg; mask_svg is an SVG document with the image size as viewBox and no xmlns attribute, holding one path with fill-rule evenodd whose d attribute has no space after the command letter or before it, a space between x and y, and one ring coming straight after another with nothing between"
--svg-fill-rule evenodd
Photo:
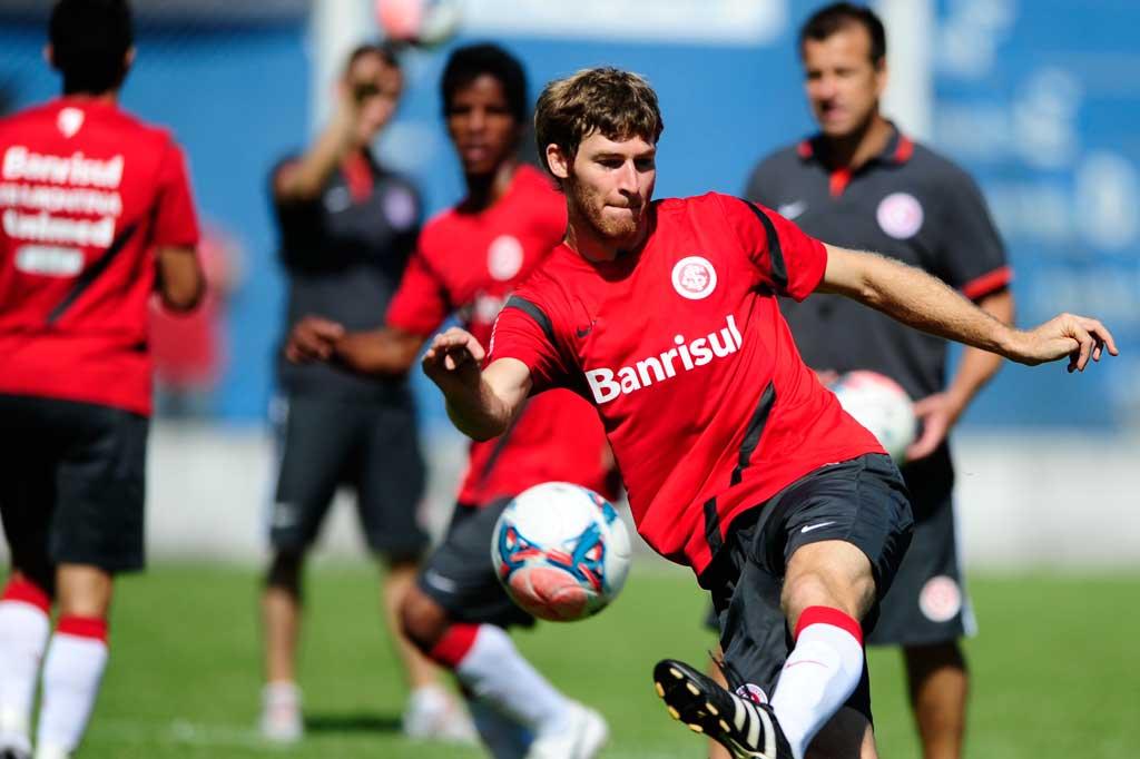
<instances>
[{"instance_id":1,"label":"dark shorts of blurred man raising hand to his face","mask_svg":"<svg viewBox=\"0 0 1140 759\"><path fill-rule=\"evenodd\" d=\"M368 547L389 561L418 558L425 470L410 405L294 394L274 413L280 472L270 515L278 550L317 538L336 487L356 490Z\"/></svg>"}]
</instances>

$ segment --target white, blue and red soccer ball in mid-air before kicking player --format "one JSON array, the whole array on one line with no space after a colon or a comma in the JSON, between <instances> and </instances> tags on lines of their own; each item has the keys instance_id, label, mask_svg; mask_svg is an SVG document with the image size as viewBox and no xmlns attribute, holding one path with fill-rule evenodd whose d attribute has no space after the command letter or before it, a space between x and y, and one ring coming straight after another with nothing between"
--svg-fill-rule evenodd
<instances>
[{"instance_id":1,"label":"white, blue and red soccer ball in mid-air before kicking player","mask_svg":"<svg viewBox=\"0 0 1140 759\"><path fill-rule=\"evenodd\" d=\"M544 482L507 504L491 561L511 598L539 619L602 611L629 573L629 533L608 500L569 482Z\"/></svg>"}]
</instances>

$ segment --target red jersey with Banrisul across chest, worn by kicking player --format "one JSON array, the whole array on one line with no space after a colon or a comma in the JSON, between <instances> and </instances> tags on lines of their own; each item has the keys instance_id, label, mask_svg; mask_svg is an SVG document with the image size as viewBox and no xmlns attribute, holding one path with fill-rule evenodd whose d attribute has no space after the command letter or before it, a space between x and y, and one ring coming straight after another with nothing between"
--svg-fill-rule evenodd
<instances>
[{"instance_id":1,"label":"red jersey with Banrisul across chest, worn by kicking player","mask_svg":"<svg viewBox=\"0 0 1140 759\"><path fill-rule=\"evenodd\" d=\"M562 245L499 315L490 359L593 401L638 532L700 574L732 520L821 466L882 452L796 351L826 252L779 214L709 194L654 203L636 252Z\"/></svg>"}]
</instances>

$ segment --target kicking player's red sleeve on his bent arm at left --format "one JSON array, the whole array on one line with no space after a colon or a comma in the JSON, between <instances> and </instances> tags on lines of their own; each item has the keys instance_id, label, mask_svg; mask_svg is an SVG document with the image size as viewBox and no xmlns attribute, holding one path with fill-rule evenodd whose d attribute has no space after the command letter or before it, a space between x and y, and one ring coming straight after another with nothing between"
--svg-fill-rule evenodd
<instances>
[{"instance_id":1,"label":"kicking player's red sleeve on his bent arm at left","mask_svg":"<svg viewBox=\"0 0 1140 759\"><path fill-rule=\"evenodd\" d=\"M531 394L567 384L569 372L554 344L549 317L524 295L512 295L495 319L487 364L500 358L518 359L527 365Z\"/></svg>"}]
</instances>

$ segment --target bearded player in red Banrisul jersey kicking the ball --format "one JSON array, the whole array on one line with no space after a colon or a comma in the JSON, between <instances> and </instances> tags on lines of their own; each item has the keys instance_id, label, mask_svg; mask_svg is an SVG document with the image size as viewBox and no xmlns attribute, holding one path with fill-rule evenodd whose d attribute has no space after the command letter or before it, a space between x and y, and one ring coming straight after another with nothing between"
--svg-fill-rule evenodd
<instances>
[{"instance_id":1,"label":"bearded player in red Banrisul jersey kicking the ball","mask_svg":"<svg viewBox=\"0 0 1140 759\"><path fill-rule=\"evenodd\" d=\"M482 345L424 354L456 426L500 434L569 387L602 417L638 531L723 609L735 692L660 662L670 713L734 757L874 757L863 620L906 550L898 471L796 352L776 295L838 293L1023 364L1083 370L1116 346L1061 315L1021 332L905 264L813 239L734 197L651 203L662 122L644 80L595 68L547 85L539 152L569 213L557 247Z\"/></svg>"}]
</instances>

